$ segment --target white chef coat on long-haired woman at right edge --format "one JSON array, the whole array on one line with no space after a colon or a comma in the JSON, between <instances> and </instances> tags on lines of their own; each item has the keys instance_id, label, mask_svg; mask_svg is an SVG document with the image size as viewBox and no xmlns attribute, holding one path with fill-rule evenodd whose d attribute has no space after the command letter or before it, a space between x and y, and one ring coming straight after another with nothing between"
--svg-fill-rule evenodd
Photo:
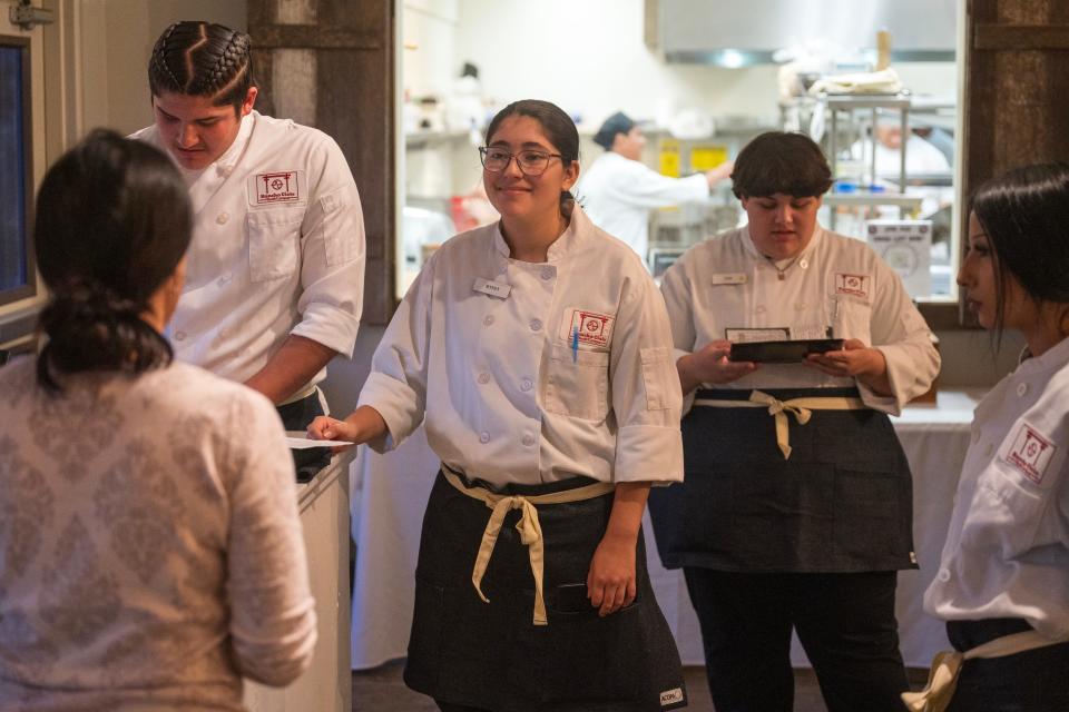
<instances>
[{"instance_id":1,"label":"white chef coat on long-haired woman at right edge","mask_svg":"<svg viewBox=\"0 0 1069 712\"><path fill-rule=\"evenodd\" d=\"M1020 617L1069 637L1069 339L977 406L954 512L924 610Z\"/></svg>"}]
</instances>

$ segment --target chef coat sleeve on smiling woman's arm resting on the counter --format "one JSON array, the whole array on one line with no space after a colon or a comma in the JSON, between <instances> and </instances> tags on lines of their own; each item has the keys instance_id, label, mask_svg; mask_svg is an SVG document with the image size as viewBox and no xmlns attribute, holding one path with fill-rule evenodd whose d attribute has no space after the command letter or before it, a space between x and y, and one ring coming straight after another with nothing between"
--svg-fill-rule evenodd
<instances>
[{"instance_id":1,"label":"chef coat sleeve on smiling woman's arm resting on the counter","mask_svg":"<svg viewBox=\"0 0 1069 712\"><path fill-rule=\"evenodd\" d=\"M377 453L399 446L423 421L437 256L423 266L390 320L371 359L357 407L373 407L388 434L367 445Z\"/></svg>"}]
</instances>

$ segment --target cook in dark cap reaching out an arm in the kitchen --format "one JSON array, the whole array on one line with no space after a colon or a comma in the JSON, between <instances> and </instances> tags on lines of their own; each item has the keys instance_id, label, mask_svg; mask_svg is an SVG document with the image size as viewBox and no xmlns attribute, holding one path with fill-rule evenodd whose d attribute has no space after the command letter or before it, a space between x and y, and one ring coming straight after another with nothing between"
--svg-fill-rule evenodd
<instances>
[{"instance_id":1,"label":"cook in dark cap reaching out an arm in the kitchen","mask_svg":"<svg viewBox=\"0 0 1069 712\"><path fill-rule=\"evenodd\" d=\"M649 251L649 211L703 200L732 172L727 161L686 178L661 176L641 162L646 137L622 112L606 119L594 140L606 152L583 174L576 189L579 202L595 225L630 245L644 260Z\"/></svg>"}]
</instances>

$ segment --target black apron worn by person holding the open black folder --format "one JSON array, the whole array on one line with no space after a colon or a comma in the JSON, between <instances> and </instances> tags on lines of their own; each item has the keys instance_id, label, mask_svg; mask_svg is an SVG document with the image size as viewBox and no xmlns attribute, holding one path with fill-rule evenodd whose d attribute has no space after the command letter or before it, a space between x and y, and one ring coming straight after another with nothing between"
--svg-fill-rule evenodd
<instances>
[{"instance_id":1,"label":"black apron worn by person holding the open black folder","mask_svg":"<svg viewBox=\"0 0 1069 712\"><path fill-rule=\"evenodd\" d=\"M762 389L781 400L855 388ZM699 390L746 400L749 390ZM683 419L684 482L650 492L668 568L847 573L915 568L910 466L886 414L818 411L790 421L788 459L766 408L695 406Z\"/></svg>"}]
</instances>

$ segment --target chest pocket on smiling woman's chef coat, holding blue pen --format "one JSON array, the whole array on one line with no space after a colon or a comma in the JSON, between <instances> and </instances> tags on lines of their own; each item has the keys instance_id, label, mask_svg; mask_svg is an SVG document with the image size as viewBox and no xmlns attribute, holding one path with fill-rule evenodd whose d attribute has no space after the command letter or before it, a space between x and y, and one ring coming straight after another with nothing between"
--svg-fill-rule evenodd
<instances>
[{"instance_id":1,"label":"chest pocket on smiling woman's chef coat, holding blue pen","mask_svg":"<svg viewBox=\"0 0 1069 712\"><path fill-rule=\"evenodd\" d=\"M543 402L550 413L604 421L609 413L608 352L551 344Z\"/></svg>"}]
</instances>

